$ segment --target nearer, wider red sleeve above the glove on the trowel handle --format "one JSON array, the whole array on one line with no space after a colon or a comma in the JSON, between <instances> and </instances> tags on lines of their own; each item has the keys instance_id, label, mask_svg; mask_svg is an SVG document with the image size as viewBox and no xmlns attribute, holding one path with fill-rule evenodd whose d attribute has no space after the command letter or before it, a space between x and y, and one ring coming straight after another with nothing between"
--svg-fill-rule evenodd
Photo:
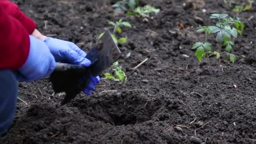
<instances>
[{"instance_id":1,"label":"nearer, wider red sleeve above the glove on the trowel handle","mask_svg":"<svg viewBox=\"0 0 256 144\"><path fill-rule=\"evenodd\" d=\"M0 69L19 69L27 60L29 47L27 29L0 3Z\"/></svg>"}]
</instances>

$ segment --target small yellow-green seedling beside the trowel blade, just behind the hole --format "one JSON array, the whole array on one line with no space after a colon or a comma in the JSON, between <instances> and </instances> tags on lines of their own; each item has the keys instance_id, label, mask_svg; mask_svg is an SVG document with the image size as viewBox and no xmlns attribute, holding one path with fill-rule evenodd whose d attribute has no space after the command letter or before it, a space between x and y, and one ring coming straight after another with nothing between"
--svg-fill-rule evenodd
<instances>
[{"instance_id":1,"label":"small yellow-green seedling beside the trowel blade, just behind the hole","mask_svg":"<svg viewBox=\"0 0 256 144\"><path fill-rule=\"evenodd\" d=\"M121 82L124 82L127 79L127 77L125 75L125 72L122 70L122 67L118 66L118 61L113 63L112 66L115 67L114 69L112 69L114 71L114 75L105 73L105 77L107 77L107 79L109 80L120 80Z\"/></svg>"}]
</instances>

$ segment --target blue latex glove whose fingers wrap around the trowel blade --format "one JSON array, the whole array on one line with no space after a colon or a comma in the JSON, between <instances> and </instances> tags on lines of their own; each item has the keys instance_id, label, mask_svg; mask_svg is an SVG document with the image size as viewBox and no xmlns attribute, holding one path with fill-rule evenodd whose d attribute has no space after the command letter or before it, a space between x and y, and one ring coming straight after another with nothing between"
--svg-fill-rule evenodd
<instances>
[{"instance_id":1,"label":"blue latex glove whose fingers wrap around the trowel blade","mask_svg":"<svg viewBox=\"0 0 256 144\"><path fill-rule=\"evenodd\" d=\"M48 45L56 61L77 64L84 67L91 65L91 61L85 58L86 53L78 48L75 43L52 37L47 37L43 41ZM99 80L99 76L91 77L88 87L86 87L83 92L90 95L91 91L95 90L95 84L99 83Z\"/></svg>"}]
</instances>

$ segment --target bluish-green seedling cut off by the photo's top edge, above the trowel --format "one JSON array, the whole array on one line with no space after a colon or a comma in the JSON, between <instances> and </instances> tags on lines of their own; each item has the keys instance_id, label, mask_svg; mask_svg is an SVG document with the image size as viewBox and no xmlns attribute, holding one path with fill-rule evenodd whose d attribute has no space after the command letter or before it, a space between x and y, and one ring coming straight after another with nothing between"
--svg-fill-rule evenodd
<instances>
[{"instance_id":1,"label":"bluish-green seedling cut off by the photo's top edge, above the trowel","mask_svg":"<svg viewBox=\"0 0 256 144\"><path fill-rule=\"evenodd\" d=\"M116 2L112 7L115 11L128 11L133 10L137 5L139 5L139 0L120 0Z\"/></svg>"}]
</instances>

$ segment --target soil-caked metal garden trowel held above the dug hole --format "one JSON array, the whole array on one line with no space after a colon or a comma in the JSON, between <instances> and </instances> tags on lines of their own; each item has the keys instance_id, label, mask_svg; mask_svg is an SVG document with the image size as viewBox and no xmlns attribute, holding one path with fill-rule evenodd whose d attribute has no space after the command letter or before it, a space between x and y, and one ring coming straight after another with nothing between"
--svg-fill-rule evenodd
<instances>
[{"instance_id":1,"label":"soil-caked metal garden trowel held above the dug hole","mask_svg":"<svg viewBox=\"0 0 256 144\"><path fill-rule=\"evenodd\" d=\"M66 104L77 96L91 81L91 76L96 77L110 67L120 58L121 52L114 42L108 29L101 39L87 53L85 58L92 64L83 67L74 64L57 62L57 67L50 76L55 93L65 92L66 96L61 105Z\"/></svg>"}]
</instances>

